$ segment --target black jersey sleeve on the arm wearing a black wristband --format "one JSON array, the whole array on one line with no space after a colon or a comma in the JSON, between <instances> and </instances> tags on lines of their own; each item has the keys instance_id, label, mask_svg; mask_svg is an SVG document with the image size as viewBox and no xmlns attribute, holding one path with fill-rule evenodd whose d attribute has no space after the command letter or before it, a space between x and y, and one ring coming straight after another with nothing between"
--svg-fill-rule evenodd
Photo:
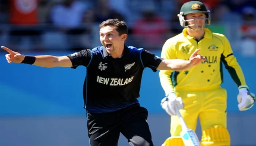
<instances>
[{"instance_id":1,"label":"black jersey sleeve on the arm wearing a black wristband","mask_svg":"<svg viewBox=\"0 0 256 146\"><path fill-rule=\"evenodd\" d=\"M72 62L72 67L76 69L79 65L83 65L85 67L88 67L91 59L93 58L93 52L90 49L85 49L79 52L75 52L73 54L67 55L67 57Z\"/></svg>"}]
</instances>

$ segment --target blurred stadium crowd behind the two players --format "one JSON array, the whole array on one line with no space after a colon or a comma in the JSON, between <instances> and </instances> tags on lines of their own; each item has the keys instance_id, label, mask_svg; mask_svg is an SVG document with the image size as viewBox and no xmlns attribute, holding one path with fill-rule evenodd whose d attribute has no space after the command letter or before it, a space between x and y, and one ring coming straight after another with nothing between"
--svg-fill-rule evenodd
<instances>
[{"instance_id":1,"label":"blurred stadium crowd behind the two players","mask_svg":"<svg viewBox=\"0 0 256 146\"><path fill-rule=\"evenodd\" d=\"M100 45L98 24L125 20L128 45L161 50L181 32L177 18L189 0L0 0L0 43L14 50L81 50ZM256 0L199 0L211 11L213 32L234 50L256 54Z\"/></svg>"}]
</instances>

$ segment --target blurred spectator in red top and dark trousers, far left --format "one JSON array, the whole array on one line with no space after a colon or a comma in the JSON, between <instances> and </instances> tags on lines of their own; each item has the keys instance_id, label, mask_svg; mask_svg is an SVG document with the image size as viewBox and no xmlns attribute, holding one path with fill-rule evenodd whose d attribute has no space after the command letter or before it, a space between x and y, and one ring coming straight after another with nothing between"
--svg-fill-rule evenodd
<instances>
[{"instance_id":1,"label":"blurred spectator in red top and dark trousers, far left","mask_svg":"<svg viewBox=\"0 0 256 146\"><path fill-rule=\"evenodd\" d=\"M38 29L38 0L10 0L10 30L9 45L18 50L22 48L23 38L29 38L33 49L41 49L41 34ZM26 50L32 49L25 44ZM25 49L23 48L23 49Z\"/></svg>"}]
</instances>

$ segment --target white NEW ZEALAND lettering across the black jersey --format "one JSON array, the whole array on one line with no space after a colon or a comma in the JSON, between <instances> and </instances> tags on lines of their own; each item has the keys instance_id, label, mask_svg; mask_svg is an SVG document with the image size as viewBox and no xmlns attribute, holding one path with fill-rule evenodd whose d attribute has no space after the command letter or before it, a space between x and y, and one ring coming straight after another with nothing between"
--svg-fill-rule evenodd
<instances>
[{"instance_id":1,"label":"white NEW ZEALAND lettering across the black jersey","mask_svg":"<svg viewBox=\"0 0 256 146\"><path fill-rule=\"evenodd\" d=\"M104 78L97 76L97 82L104 84L104 85L110 85L110 86L123 86L127 85L128 83L132 82L133 76L130 78Z\"/></svg>"}]
</instances>

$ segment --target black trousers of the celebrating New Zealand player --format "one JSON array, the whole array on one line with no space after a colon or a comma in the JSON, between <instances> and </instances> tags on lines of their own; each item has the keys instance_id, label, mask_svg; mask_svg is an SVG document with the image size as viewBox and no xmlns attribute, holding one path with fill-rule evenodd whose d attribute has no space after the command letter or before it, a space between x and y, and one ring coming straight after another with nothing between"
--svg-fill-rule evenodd
<instances>
[{"instance_id":1,"label":"black trousers of the celebrating New Zealand player","mask_svg":"<svg viewBox=\"0 0 256 146\"><path fill-rule=\"evenodd\" d=\"M117 146L120 132L131 146L153 146L148 111L138 103L115 112L87 114L91 146Z\"/></svg>"}]
</instances>

